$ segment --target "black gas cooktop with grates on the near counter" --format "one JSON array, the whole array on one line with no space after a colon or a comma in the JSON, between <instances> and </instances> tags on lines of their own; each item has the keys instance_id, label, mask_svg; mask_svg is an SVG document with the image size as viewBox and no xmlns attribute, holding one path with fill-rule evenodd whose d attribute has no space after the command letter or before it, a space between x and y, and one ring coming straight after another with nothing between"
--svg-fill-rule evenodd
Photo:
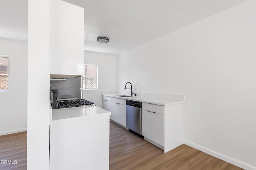
<instances>
[{"instance_id":1,"label":"black gas cooktop with grates on the near counter","mask_svg":"<svg viewBox=\"0 0 256 170\"><path fill-rule=\"evenodd\" d=\"M67 107L79 107L79 106L90 106L94 105L93 102L84 99L76 100L60 100L57 102L58 108L67 108Z\"/></svg>"}]
</instances>

